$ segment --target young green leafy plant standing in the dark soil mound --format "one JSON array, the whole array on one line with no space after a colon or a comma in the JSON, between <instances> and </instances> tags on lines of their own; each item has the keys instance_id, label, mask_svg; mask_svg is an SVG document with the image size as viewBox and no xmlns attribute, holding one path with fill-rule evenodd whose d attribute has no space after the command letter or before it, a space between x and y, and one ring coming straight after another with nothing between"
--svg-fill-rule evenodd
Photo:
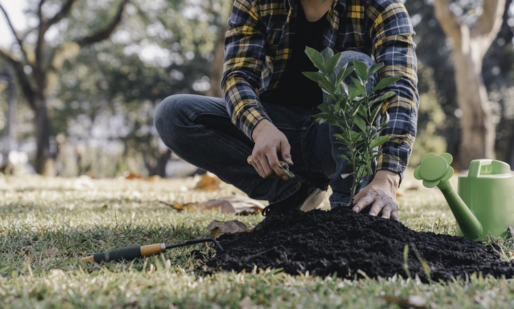
<instances>
[{"instance_id":1,"label":"young green leafy plant standing in the dark soil mound","mask_svg":"<svg viewBox=\"0 0 514 309\"><path fill-rule=\"evenodd\" d=\"M347 164L353 168L352 173L341 175L343 179L353 177L350 195L350 205L353 205L360 180L374 173L372 162L380 156L378 147L389 140L389 136L380 136L389 121L389 114L383 110L383 105L395 92L380 93L379 90L393 84L400 77L382 78L367 92L369 79L384 66L383 63L374 64L368 69L365 63L354 60L353 66L345 64L336 72L341 53L334 55L329 48L319 53L310 47L306 47L305 52L319 71L304 72L304 75L317 82L325 92L325 101L318 106L322 112L314 117L319 123L336 125L341 129L341 133L334 134L334 137L336 143L341 145L339 149L343 151L339 158L347 160ZM348 86L344 81L352 72L355 72L356 77L350 76L352 84ZM378 123L381 111L383 119Z\"/></svg>"}]
</instances>

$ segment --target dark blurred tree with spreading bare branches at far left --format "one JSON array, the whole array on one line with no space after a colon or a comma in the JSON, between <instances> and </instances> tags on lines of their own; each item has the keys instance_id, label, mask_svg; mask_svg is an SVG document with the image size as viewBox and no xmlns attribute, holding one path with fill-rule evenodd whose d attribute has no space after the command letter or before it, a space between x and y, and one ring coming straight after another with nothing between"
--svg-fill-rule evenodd
<instances>
[{"instance_id":1,"label":"dark blurred tree with spreading bare branches at far left","mask_svg":"<svg viewBox=\"0 0 514 309\"><path fill-rule=\"evenodd\" d=\"M10 50L0 49L0 56L14 68L23 95L35 113L37 173L55 173L52 156L56 153L51 153L50 149L53 133L48 99L56 80L60 78L64 62L75 58L83 47L109 38L120 23L128 1L103 1L103 18L95 18L95 23L72 28L69 27L70 15L73 5L79 1L38 0L33 3L36 5L29 5L34 9L26 12L27 20L36 20L36 27L27 29L23 34L14 29L7 12L0 5L16 39ZM95 11L87 14L95 15ZM49 40L52 31L54 35L58 33L58 38L64 38L66 34L75 35L71 40L52 41Z\"/></svg>"}]
</instances>

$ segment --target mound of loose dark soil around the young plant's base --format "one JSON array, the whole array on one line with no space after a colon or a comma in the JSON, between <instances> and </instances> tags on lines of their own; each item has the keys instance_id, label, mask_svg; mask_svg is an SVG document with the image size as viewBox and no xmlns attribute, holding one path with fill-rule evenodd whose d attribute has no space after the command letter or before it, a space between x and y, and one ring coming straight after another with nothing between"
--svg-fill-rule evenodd
<instances>
[{"instance_id":1,"label":"mound of loose dark soil around the young plant's base","mask_svg":"<svg viewBox=\"0 0 514 309\"><path fill-rule=\"evenodd\" d=\"M428 281L421 261L430 267L432 280L450 280L474 272L514 277L514 263L502 262L490 245L464 237L415 232L402 223L371 217L340 207L330 211L293 210L268 225L240 235L223 235L223 251L208 267L252 271L282 268L292 275L305 273L339 277L406 277L404 247L408 245L408 271Z\"/></svg>"}]
</instances>

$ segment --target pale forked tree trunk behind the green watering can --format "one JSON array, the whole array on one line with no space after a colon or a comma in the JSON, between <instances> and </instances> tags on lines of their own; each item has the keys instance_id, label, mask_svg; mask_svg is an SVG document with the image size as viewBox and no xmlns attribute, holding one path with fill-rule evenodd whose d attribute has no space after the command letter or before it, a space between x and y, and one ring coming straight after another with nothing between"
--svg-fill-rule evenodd
<instances>
[{"instance_id":1,"label":"pale forked tree trunk behind the green watering can","mask_svg":"<svg viewBox=\"0 0 514 309\"><path fill-rule=\"evenodd\" d=\"M495 123L482 79L482 60L500 31L505 0L484 1L483 12L472 29L450 10L450 1L436 0L436 17L454 42L453 56L458 107L462 110L459 168L475 159L495 158Z\"/></svg>"}]
</instances>

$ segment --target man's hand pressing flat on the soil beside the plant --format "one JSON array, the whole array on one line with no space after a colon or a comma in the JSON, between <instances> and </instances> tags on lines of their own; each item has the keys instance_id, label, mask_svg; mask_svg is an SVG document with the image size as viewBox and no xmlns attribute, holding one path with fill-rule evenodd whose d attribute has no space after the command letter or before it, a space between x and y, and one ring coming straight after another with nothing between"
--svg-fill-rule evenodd
<instances>
[{"instance_id":1,"label":"man's hand pressing flat on the soil beside the plant","mask_svg":"<svg viewBox=\"0 0 514 309\"><path fill-rule=\"evenodd\" d=\"M360 212L372 204L369 210L371 216L382 212L382 218L400 221L396 206L396 191L399 184L398 173L387 170L377 171L374 179L355 196L353 210Z\"/></svg>"}]
</instances>

